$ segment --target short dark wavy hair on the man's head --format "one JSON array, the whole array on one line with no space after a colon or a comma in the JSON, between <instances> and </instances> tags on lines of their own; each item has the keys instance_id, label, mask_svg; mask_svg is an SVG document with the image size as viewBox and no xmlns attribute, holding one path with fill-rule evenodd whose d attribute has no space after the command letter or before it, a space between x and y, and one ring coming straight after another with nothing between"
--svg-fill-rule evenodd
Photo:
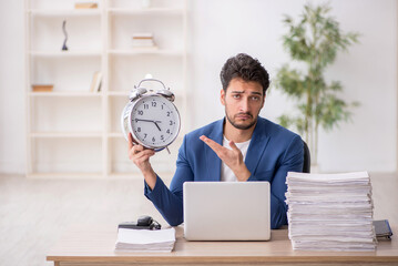
<instances>
[{"instance_id":1,"label":"short dark wavy hair on the man's head","mask_svg":"<svg viewBox=\"0 0 398 266\"><path fill-rule=\"evenodd\" d=\"M226 91L231 80L241 78L244 81L258 82L263 86L263 94L269 86L269 75L257 59L253 59L246 53L238 53L229 58L220 73L223 90Z\"/></svg>"}]
</instances>

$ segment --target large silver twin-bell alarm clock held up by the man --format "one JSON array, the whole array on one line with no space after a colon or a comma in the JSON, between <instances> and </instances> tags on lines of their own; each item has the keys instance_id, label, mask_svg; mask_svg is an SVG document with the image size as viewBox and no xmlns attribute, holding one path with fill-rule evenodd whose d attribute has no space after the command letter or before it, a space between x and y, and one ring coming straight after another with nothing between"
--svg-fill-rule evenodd
<instances>
[{"instance_id":1,"label":"large silver twin-bell alarm clock held up by the man","mask_svg":"<svg viewBox=\"0 0 398 266\"><path fill-rule=\"evenodd\" d=\"M160 90L145 89L142 83L157 82ZM122 112L122 131L129 140L154 151L161 151L172 144L180 133L181 119L173 103L174 94L162 81L142 80L130 94L130 102Z\"/></svg>"}]
</instances>

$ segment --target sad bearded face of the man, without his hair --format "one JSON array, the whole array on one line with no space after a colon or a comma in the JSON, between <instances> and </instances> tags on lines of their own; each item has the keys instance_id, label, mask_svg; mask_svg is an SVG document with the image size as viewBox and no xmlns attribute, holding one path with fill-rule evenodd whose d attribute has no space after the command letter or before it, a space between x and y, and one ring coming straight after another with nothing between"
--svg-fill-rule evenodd
<instances>
[{"instance_id":1,"label":"sad bearded face of the man, without his hair","mask_svg":"<svg viewBox=\"0 0 398 266\"><path fill-rule=\"evenodd\" d=\"M264 100L263 86L258 82L246 82L241 78L231 80L226 92L221 90L226 117L238 130L248 130L256 124Z\"/></svg>"}]
</instances>

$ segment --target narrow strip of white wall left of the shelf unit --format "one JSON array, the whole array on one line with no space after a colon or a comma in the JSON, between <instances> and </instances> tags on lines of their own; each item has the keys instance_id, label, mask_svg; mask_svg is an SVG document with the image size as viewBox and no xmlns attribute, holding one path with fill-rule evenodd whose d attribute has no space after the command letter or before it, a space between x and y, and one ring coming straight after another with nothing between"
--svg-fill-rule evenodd
<instances>
[{"instance_id":1,"label":"narrow strip of white wall left of the shelf unit","mask_svg":"<svg viewBox=\"0 0 398 266\"><path fill-rule=\"evenodd\" d=\"M23 0L0 1L0 173L24 173Z\"/></svg>"}]
</instances>

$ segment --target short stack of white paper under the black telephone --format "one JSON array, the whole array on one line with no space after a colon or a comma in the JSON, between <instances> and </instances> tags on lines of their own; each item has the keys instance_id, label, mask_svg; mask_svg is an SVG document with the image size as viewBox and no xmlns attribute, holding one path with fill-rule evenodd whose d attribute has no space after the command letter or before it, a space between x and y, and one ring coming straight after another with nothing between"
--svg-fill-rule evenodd
<instances>
[{"instance_id":1,"label":"short stack of white paper under the black telephone","mask_svg":"<svg viewBox=\"0 0 398 266\"><path fill-rule=\"evenodd\" d=\"M115 249L119 252L171 252L175 243L175 229L120 228Z\"/></svg>"}]
</instances>

